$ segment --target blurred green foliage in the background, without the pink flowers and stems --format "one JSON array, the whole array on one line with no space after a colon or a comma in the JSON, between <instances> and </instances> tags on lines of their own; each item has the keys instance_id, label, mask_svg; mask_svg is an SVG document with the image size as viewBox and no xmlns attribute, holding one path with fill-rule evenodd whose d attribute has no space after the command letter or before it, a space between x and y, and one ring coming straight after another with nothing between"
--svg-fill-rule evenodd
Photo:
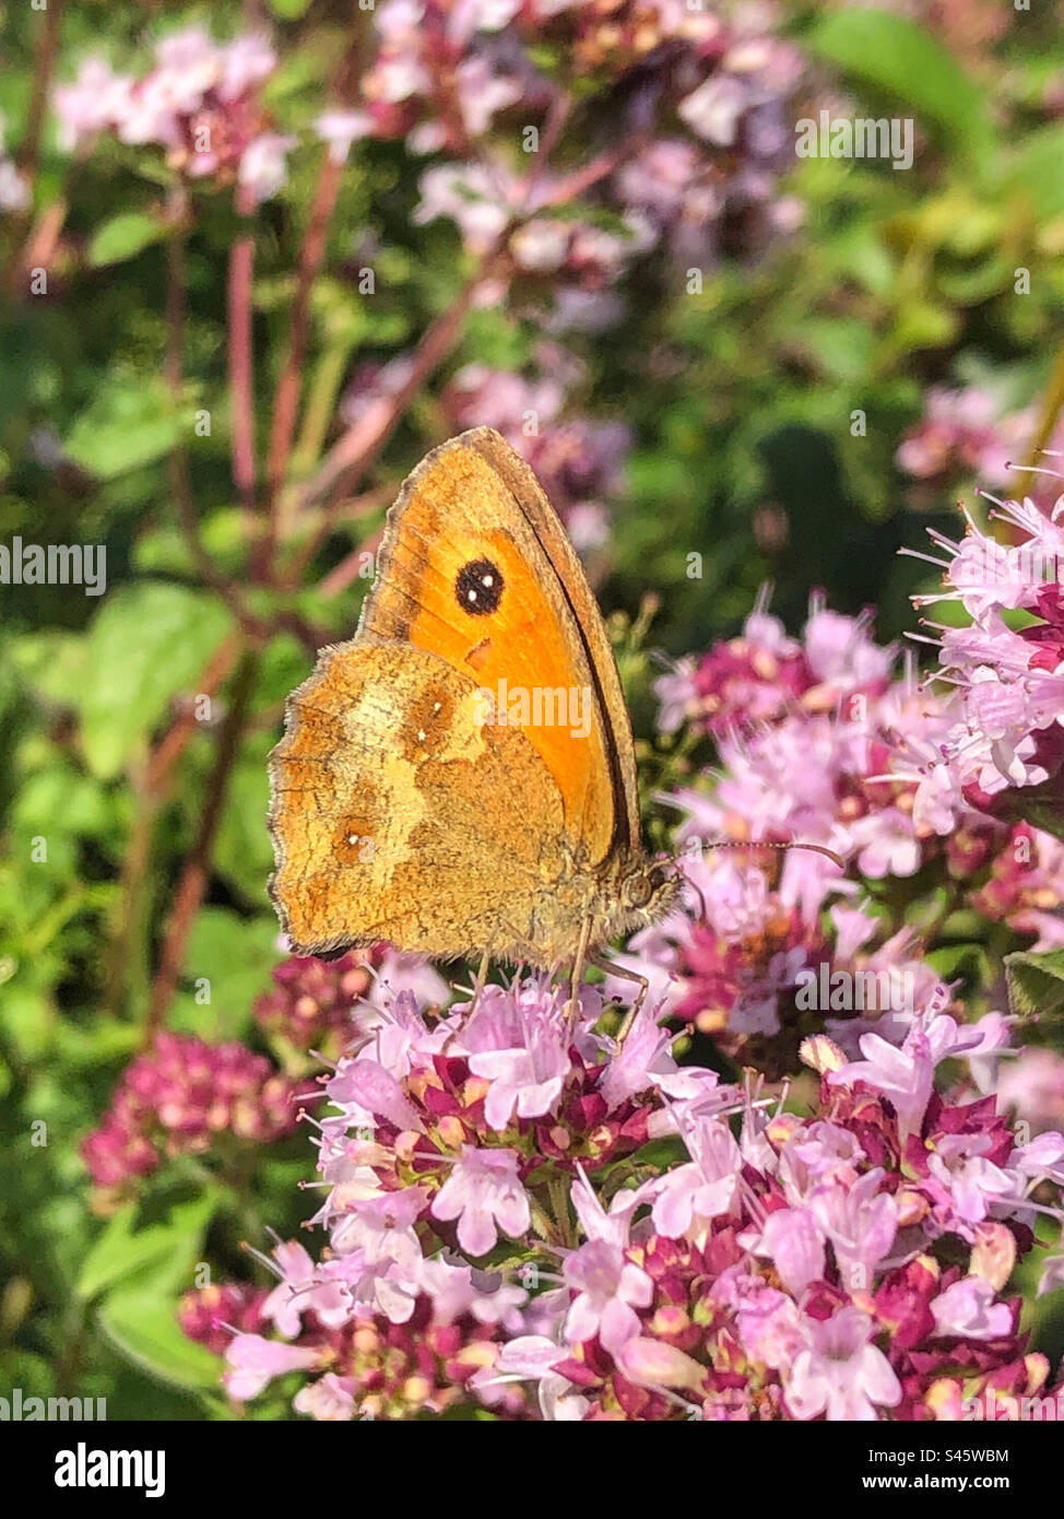
<instances>
[{"instance_id":1,"label":"blurred green foliage in the background, without the pink flowers and stems","mask_svg":"<svg viewBox=\"0 0 1064 1519\"><path fill-rule=\"evenodd\" d=\"M285 128L320 108L349 14L275 0L282 67L269 99ZM39 20L26 5L0 5L0 109L15 146ZM238 11L193 5L181 20L226 32ZM61 67L102 41L118 64L141 56L144 23L137 5L68 6ZM601 602L634 617L656 594L647 643L671 653L733 632L767 579L792 626L823 588L841 611L874 606L879 632L899 635L912 626L908 594L926 567L896 550L923 547L926 526L952 530L953 497L971 485L915 492L899 474L899 441L927 386L984 384L1003 410L1046 396L1049 413L1059 401L1064 122L1043 108L1061 74L1059 14L1017 12L1000 43L970 53L920 23L852 6L792 6L786 29L855 111L912 114L923 141L905 173L795 161L785 185L806 205L795 234L754 263L726 257L700 295L674 267L644 260L627 278L628 319L586 354L578 406L624 419L636 441ZM290 182L257 219L261 434L316 163L293 155ZM191 494L206 548L243 580L226 403L235 222L226 196L205 199L185 254L187 380L175 399L164 381L173 231L158 214L149 155L102 143L68 176L46 137L35 213L61 193L70 204L47 298L9 286L0 314L0 541L102 542L108 591L94 600L62 586L0 588L0 1384L106 1396L112 1417L228 1417L219 1364L182 1338L175 1302L196 1262L209 1261L216 1279L246 1273L243 1238L261 1243L266 1224L291 1232L311 1211L294 1186L311 1168L305 1138L273 1147L253 1176L172 1167L143 1203L109 1220L91 1211L76 1147L141 1047L217 753L217 726L200 725L152 793L155 746L237 633L231 606L190 556L168 472L194 413L209 409L211 436L190 457ZM410 161L393 144L367 144L343 176L307 369L326 401L354 365L413 345L467 275L454 228L414 225L416 201ZM349 257L367 228L379 238L372 302L355 293ZM24 232L11 214L0 223L8 258ZM1031 273L1028 295L1015 293L1017 269ZM434 396L448 374L469 360L522 368L539 336L534 319L508 307L477 311L364 488L396 483L439 441ZM858 409L864 437L852 434ZM304 463L310 471L314 460ZM759 526L767 510L770 535ZM255 615L288 614L346 636L366 582L331 600L313 586L379 515L342 523L305 588L247 588ZM700 580L686 574L694 550L704 556ZM250 1004L279 958L266 898L266 756L281 703L311 662L294 626L270 636L250 671L208 889L168 1009L168 1027L208 1041L258 1042ZM217 696L222 712L234 670ZM648 737L653 671L639 655L625 673ZM32 860L39 837L44 863ZM202 977L206 1006L194 996ZM33 1142L39 1123L44 1145ZM255 1416L282 1411L276 1399Z\"/></svg>"}]
</instances>

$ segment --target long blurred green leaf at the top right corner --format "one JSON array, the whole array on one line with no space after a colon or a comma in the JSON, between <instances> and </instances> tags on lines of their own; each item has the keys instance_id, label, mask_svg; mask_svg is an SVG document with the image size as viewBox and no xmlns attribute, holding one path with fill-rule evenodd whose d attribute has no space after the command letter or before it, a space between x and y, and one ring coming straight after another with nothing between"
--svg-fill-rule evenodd
<instances>
[{"instance_id":1,"label":"long blurred green leaf at the top right corner","mask_svg":"<svg viewBox=\"0 0 1064 1519\"><path fill-rule=\"evenodd\" d=\"M976 158L993 152L987 93L914 21L886 11L835 11L806 38L806 47L892 96L917 126L938 128L955 149Z\"/></svg>"}]
</instances>

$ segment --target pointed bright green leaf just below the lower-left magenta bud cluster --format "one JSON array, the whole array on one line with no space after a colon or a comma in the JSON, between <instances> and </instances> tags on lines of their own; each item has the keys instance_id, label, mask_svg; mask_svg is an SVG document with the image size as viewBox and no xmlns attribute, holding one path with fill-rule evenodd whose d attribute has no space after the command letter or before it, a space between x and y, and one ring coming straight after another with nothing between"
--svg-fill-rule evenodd
<instances>
[{"instance_id":1,"label":"pointed bright green leaf just below the lower-left magenta bud cluster","mask_svg":"<svg viewBox=\"0 0 1064 1519\"><path fill-rule=\"evenodd\" d=\"M172 1288L187 1285L217 1205L219 1194L212 1188L170 1206L162 1205L158 1220L152 1218L149 1206L127 1203L109 1220L85 1256L77 1296L99 1297L105 1288L127 1277L150 1276L156 1296L164 1284Z\"/></svg>"}]
</instances>

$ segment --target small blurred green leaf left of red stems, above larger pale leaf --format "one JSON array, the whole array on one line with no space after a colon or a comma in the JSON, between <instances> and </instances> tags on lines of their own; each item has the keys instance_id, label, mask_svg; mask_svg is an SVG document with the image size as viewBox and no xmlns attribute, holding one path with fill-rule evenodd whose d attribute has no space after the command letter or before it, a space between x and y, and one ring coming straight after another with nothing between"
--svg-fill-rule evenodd
<instances>
[{"instance_id":1,"label":"small blurred green leaf left of red stems, above larger pale leaf","mask_svg":"<svg viewBox=\"0 0 1064 1519\"><path fill-rule=\"evenodd\" d=\"M112 380L74 419L64 451L97 480L117 480L165 457L185 431L161 381Z\"/></svg>"}]
</instances>

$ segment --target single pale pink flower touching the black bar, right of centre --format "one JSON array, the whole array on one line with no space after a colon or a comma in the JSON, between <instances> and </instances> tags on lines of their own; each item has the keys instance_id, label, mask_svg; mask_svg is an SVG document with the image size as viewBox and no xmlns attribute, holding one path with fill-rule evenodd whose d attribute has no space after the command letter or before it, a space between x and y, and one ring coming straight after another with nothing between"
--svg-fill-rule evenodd
<instances>
[{"instance_id":1,"label":"single pale pink flower touching the black bar, right of centre","mask_svg":"<svg viewBox=\"0 0 1064 1519\"><path fill-rule=\"evenodd\" d=\"M824 1414L829 1422L868 1422L877 1408L902 1401L891 1364L871 1344L873 1322L858 1308L839 1308L821 1322L806 1318L806 1344L786 1378L788 1407L797 1419Z\"/></svg>"}]
</instances>

